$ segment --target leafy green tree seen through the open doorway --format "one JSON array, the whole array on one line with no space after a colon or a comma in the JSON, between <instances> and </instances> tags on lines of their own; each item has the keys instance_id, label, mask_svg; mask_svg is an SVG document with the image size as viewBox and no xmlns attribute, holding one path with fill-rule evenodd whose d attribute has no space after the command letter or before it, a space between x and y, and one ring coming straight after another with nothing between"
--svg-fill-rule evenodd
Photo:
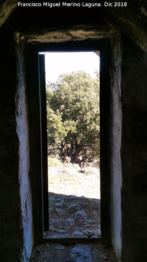
<instances>
[{"instance_id":1,"label":"leafy green tree seen through the open doorway","mask_svg":"<svg viewBox=\"0 0 147 262\"><path fill-rule=\"evenodd\" d=\"M99 157L99 72L60 75L46 87L49 154L72 163Z\"/></svg>"}]
</instances>

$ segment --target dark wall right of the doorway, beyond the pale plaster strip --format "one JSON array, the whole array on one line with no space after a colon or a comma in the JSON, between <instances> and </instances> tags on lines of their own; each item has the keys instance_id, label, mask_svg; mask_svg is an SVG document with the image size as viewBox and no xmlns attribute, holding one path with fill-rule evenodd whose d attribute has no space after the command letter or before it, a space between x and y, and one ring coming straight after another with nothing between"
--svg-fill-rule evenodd
<instances>
[{"instance_id":1,"label":"dark wall right of the doorway, beyond the pale plaster strip","mask_svg":"<svg viewBox=\"0 0 147 262\"><path fill-rule=\"evenodd\" d=\"M147 261L147 74L146 61L123 36L122 103L122 254L121 261Z\"/></svg>"}]
</instances>

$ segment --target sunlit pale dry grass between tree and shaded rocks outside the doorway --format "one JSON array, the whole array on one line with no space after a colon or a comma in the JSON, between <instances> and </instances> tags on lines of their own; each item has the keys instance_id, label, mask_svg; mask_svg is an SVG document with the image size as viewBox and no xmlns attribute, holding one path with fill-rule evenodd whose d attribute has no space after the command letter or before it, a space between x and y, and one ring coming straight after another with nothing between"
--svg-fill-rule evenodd
<instances>
[{"instance_id":1,"label":"sunlit pale dry grass between tree and shaded rocks outside the doorway","mask_svg":"<svg viewBox=\"0 0 147 262\"><path fill-rule=\"evenodd\" d=\"M49 192L100 199L100 172L96 167L81 169L77 164L48 168Z\"/></svg>"}]
</instances>

